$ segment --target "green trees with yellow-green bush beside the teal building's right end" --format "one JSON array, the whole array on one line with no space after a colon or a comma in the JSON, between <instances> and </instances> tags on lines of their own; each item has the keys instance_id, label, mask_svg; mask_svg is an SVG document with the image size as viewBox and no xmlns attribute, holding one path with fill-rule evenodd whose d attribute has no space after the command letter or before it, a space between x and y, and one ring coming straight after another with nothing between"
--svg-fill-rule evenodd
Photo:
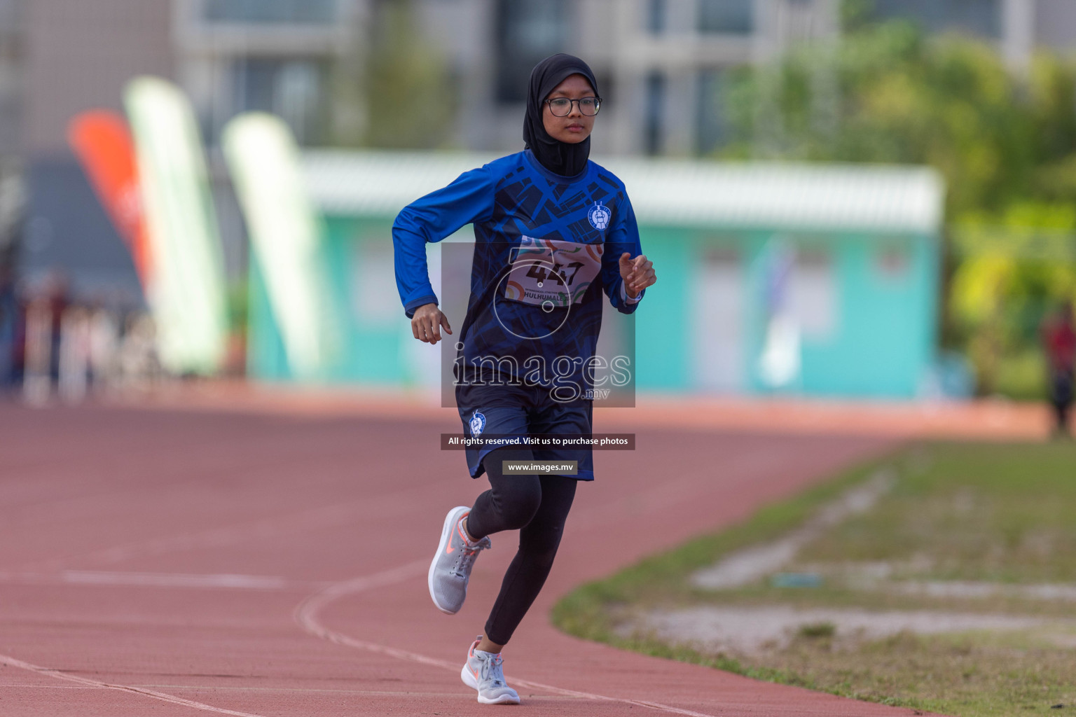
<instances>
[{"instance_id":1,"label":"green trees with yellow-green bush beside the teal building's right end","mask_svg":"<svg viewBox=\"0 0 1076 717\"><path fill-rule=\"evenodd\" d=\"M946 341L982 390L1005 388L1006 361L1037 350L1038 316L1076 297L1076 67L1039 53L1015 74L987 42L870 23L855 5L836 46L737 72L721 154L936 168L952 236Z\"/></svg>"}]
</instances>

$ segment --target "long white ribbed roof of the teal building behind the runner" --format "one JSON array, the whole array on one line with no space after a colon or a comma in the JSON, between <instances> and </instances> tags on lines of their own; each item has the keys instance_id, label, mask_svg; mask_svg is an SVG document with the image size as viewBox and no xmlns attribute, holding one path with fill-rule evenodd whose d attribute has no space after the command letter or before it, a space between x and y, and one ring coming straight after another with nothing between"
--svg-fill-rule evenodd
<instances>
[{"instance_id":1,"label":"long white ribbed roof of the teal building behind the runner","mask_svg":"<svg viewBox=\"0 0 1076 717\"><path fill-rule=\"evenodd\" d=\"M309 149L303 169L327 214L395 215L496 155ZM932 234L945 185L928 167L596 157L627 186L642 225Z\"/></svg>"}]
</instances>

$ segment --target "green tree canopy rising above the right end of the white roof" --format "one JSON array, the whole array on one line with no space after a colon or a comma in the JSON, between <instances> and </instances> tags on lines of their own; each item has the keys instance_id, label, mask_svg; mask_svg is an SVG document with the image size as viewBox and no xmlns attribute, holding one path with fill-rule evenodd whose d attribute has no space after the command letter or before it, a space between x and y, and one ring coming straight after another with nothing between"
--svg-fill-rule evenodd
<instances>
[{"instance_id":1,"label":"green tree canopy rising above the right end of the white roof","mask_svg":"<svg viewBox=\"0 0 1076 717\"><path fill-rule=\"evenodd\" d=\"M825 76L836 90L820 98ZM1036 55L1018 77L986 42L928 39L900 20L869 24L836 48L807 45L740 70L730 94L733 141L722 154L928 163L948 182L950 216L1018 200L1070 201L1074 83L1072 63L1051 54ZM826 103L834 127L817 121Z\"/></svg>"}]
</instances>

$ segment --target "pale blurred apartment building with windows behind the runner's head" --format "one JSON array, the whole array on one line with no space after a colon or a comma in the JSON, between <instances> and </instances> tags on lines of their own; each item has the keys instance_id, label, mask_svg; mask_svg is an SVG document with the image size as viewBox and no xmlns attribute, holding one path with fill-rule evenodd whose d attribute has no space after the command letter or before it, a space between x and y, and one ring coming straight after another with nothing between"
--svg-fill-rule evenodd
<instances>
[{"instance_id":1,"label":"pale blurred apartment building with windows behind the runner's head","mask_svg":"<svg viewBox=\"0 0 1076 717\"><path fill-rule=\"evenodd\" d=\"M57 0L49 0L57 1ZM98 0L121 2L122 0ZM164 0L154 0L164 2ZM145 2L145 0L143 0ZM353 120L379 17L411 8L415 31L457 92L449 146L520 145L530 68L547 55L587 59L608 98L597 153L691 156L722 142L728 70L839 35L841 0L172 0L174 76L210 142L247 109L280 114L303 144ZM873 0L877 17L991 39L1015 68L1036 44L1076 48L1071 0ZM348 84L352 83L352 87ZM363 103L377 112L377 100ZM346 133L346 132L344 132Z\"/></svg>"}]
</instances>

